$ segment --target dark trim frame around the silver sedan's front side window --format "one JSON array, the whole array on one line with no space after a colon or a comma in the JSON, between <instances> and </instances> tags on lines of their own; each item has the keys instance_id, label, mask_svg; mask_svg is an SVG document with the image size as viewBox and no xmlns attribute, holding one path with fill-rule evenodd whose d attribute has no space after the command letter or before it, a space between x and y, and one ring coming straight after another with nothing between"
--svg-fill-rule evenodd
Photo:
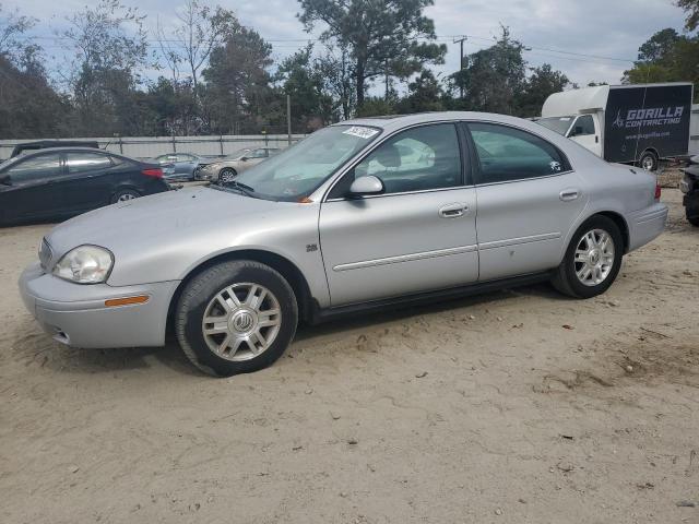
<instances>
[{"instance_id":1,"label":"dark trim frame around the silver sedan's front side window","mask_svg":"<svg viewBox=\"0 0 699 524\"><path fill-rule=\"evenodd\" d=\"M436 120L434 122L420 122L406 128L395 130L394 132L382 136L382 140L374 143L372 146L368 151L366 151L362 156L355 158L352 163L343 167L341 175L339 175L332 181L332 183L325 191L321 202L342 202L342 201L348 200L346 196L331 198L330 195L332 194L332 191L335 189L335 187L340 184L345 177L351 176L354 172L354 169L359 164L362 164L366 158L368 158L371 154L374 154L379 147L383 146L386 143L388 143L390 140L394 139L401 133L404 133L406 131L411 131L414 129L428 127L428 126L451 124L454 128L454 132L457 133L457 142L459 144L459 151L460 151L460 163L461 163L460 178L461 178L462 184L448 187L448 188L433 188L433 189L420 189L420 190L414 190L414 191L403 191L403 192L386 193L386 194L372 194L364 198L365 199L383 199L383 198L390 198L390 196L399 196L401 194L428 193L428 192L436 192L436 191L452 191L454 189L473 187L474 183L473 183L471 156L469 155L467 147L464 148L464 136L462 135L462 131L460 131L460 127L461 127L460 123L462 122L460 122L459 120Z\"/></svg>"}]
</instances>

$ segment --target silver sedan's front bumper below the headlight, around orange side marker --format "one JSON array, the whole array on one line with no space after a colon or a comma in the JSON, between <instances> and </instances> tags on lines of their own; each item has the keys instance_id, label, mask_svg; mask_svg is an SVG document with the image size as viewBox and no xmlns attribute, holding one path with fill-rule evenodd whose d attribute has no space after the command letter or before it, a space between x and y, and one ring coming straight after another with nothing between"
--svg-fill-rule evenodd
<instances>
[{"instance_id":1,"label":"silver sedan's front bumper below the headlight, around orange side marker","mask_svg":"<svg viewBox=\"0 0 699 524\"><path fill-rule=\"evenodd\" d=\"M38 263L20 277L20 294L44 331L73 347L163 346L170 299L178 281L112 287L73 284ZM144 303L106 307L105 300L147 295Z\"/></svg>"}]
</instances>

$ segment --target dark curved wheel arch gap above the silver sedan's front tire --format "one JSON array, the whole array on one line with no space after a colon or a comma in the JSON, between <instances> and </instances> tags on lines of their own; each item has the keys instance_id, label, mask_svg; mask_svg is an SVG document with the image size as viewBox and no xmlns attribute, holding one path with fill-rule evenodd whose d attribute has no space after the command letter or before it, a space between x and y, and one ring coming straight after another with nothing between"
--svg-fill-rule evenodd
<instances>
[{"instance_id":1,"label":"dark curved wheel arch gap above the silver sedan's front tire","mask_svg":"<svg viewBox=\"0 0 699 524\"><path fill-rule=\"evenodd\" d=\"M181 296L187 284L202 271L205 271L209 267L212 267L221 262L228 262L233 260L252 260L256 262L260 262L262 264L269 265L273 270L277 271L292 286L294 290L294 295L296 296L296 302L298 305L298 315L299 320L308 321L311 319L312 314L312 296L310 293L310 287L306 277L298 269L298 266L288 260L286 257L281 254L265 251L261 249L239 249L234 251L226 251L225 253L220 253L211 259L206 259L201 261L198 265L192 267L189 273L182 278L179 283L173 297L170 298L170 303L167 310L167 327L166 331L168 333L173 332L173 318L175 313L175 308L177 307L177 302L179 297Z\"/></svg>"}]
</instances>

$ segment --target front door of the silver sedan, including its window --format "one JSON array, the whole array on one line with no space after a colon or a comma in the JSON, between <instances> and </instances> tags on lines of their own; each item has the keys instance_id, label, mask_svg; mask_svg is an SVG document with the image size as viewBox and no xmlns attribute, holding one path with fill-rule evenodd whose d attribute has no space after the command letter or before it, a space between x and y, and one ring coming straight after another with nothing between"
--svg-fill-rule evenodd
<instances>
[{"instance_id":1,"label":"front door of the silver sedan, including its window","mask_svg":"<svg viewBox=\"0 0 699 524\"><path fill-rule=\"evenodd\" d=\"M475 190L466 186L457 126L389 138L347 172L320 210L320 243L333 307L446 289L478 277ZM374 175L384 194L351 199Z\"/></svg>"}]
</instances>

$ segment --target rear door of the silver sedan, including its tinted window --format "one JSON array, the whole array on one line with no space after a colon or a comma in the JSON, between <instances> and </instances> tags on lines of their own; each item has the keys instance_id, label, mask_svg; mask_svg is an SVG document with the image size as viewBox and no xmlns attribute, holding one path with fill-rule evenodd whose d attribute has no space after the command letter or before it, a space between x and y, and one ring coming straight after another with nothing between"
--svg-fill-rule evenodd
<instances>
[{"instance_id":1,"label":"rear door of the silver sedan, including its tinted window","mask_svg":"<svg viewBox=\"0 0 699 524\"><path fill-rule=\"evenodd\" d=\"M556 267L588 200L565 155L510 126L470 122L482 282Z\"/></svg>"}]
</instances>

